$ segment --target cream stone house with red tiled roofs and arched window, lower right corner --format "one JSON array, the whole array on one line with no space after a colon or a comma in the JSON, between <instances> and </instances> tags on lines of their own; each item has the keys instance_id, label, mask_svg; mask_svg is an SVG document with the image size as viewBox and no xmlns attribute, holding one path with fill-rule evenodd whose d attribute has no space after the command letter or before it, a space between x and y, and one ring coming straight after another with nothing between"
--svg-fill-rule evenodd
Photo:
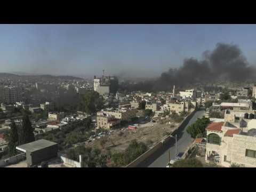
<instances>
[{"instance_id":1,"label":"cream stone house with red tiled roofs and arched window, lower right corner","mask_svg":"<svg viewBox=\"0 0 256 192\"><path fill-rule=\"evenodd\" d=\"M225 114L225 121L206 127L205 161L229 167L243 164L256 167L256 119L236 118Z\"/></svg>"}]
</instances>

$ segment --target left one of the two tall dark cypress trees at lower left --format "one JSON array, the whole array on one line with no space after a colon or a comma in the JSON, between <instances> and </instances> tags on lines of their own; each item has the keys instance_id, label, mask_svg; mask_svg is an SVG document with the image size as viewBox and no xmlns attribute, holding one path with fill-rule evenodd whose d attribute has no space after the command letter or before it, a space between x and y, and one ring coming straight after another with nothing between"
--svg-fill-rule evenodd
<instances>
[{"instance_id":1,"label":"left one of the two tall dark cypress trees at lower left","mask_svg":"<svg viewBox=\"0 0 256 192\"><path fill-rule=\"evenodd\" d=\"M9 135L6 137L8 142L8 153L12 156L16 154L16 146L19 145L18 129L14 121L11 123Z\"/></svg>"}]
</instances>

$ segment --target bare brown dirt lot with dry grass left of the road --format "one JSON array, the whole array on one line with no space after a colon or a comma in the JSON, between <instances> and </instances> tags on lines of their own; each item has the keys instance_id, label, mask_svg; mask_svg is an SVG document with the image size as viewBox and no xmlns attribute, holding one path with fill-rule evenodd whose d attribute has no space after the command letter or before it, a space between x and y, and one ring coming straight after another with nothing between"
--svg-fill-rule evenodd
<instances>
[{"instance_id":1,"label":"bare brown dirt lot with dry grass left of the road","mask_svg":"<svg viewBox=\"0 0 256 192\"><path fill-rule=\"evenodd\" d=\"M171 133L179 123L174 123L171 119L166 119L167 123L145 123L140 124L136 131L127 129L115 131L110 135L87 143L87 147L97 147L99 149L110 149L111 151L123 151L129 143L136 139L145 142L149 147L162 140L166 133ZM170 122L170 123L169 123Z\"/></svg>"}]
</instances>

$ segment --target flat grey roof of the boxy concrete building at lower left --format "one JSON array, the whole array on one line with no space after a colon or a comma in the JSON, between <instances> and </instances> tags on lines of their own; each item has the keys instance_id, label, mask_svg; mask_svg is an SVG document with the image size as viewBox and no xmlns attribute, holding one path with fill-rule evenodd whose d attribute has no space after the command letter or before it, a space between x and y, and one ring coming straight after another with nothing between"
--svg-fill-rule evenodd
<instances>
[{"instance_id":1,"label":"flat grey roof of the boxy concrete building at lower left","mask_svg":"<svg viewBox=\"0 0 256 192\"><path fill-rule=\"evenodd\" d=\"M26 153L27 151L33 152L33 151L37 151L37 150L40 150L40 149L43 149L46 147L50 147L53 145L57 145L57 143L48 141L45 139L41 139L41 140L37 140L37 141L33 141L30 143L26 143L26 144L17 146L16 149Z\"/></svg>"}]
</instances>

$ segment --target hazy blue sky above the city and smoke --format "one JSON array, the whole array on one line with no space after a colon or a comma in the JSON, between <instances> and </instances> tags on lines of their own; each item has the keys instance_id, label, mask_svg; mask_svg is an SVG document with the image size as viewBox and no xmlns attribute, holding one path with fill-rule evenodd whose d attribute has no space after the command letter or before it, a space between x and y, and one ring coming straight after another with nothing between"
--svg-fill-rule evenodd
<instances>
[{"instance_id":1,"label":"hazy blue sky above the city and smoke","mask_svg":"<svg viewBox=\"0 0 256 192\"><path fill-rule=\"evenodd\" d=\"M218 42L256 62L256 25L0 25L0 71L160 75Z\"/></svg>"}]
</instances>

